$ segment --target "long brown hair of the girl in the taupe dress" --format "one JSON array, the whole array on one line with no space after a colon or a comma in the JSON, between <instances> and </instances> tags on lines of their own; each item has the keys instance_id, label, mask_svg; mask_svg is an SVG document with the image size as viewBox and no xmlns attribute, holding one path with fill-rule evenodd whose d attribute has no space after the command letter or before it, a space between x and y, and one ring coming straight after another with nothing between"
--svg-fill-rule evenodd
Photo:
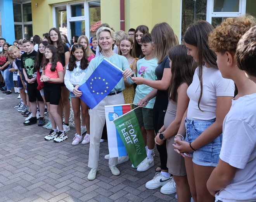
<instances>
[{"instance_id":1,"label":"long brown hair of the girl in the taupe dress","mask_svg":"<svg viewBox=\"0 0 256 202\"><path fill-rule=\"evenodd\" d=\"M176 102L177 89L182 83L189 86L192 83L195 68L193 58L187 55L185 45L173 46L168 51L171 59L171 84L169 87L169 98Z\"/></svg>"}]
</instances>

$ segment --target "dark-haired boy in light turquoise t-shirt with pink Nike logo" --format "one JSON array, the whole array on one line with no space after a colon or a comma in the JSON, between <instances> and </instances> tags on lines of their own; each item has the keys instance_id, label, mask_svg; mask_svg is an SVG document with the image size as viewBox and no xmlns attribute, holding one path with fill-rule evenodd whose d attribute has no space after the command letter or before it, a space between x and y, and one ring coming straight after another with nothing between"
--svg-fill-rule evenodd
<instances>
[{"instance_id":1,"label":"dark-haired boy in light turquoise t-shirt with pink Nike logo","mask_svg":"<svg viewBox=\"0 0 256 202\"><path fill-rule=\"evenodd\" d=\"M156 67L157 67L157 59L153 56L154 46L152 44L151 34L145 34L140 39L141 41L141 49L144 58L139 59L137 62L137 76L142 76L143 78L147 78L149 80L156 80ZM135 91L135 97L133 103L138 103L142 98L144 98L148 93L150 93L153 88L142 84L137 85ZM138 119L138 123L140 124L140 128L142 131L142 136L144 138L144 142L146 145L147 158L145 158L140 165L138 165L137 171L146 171L152 166L154 166L154 145L155 145L155 132L153 125L153 106L155 103L155 98L149 100L149 103L142 108L138 108L135 110L135 114ZM134 108L137 105L134 105ZM145 129L145 130L144 130Z\"/></svg>"}]
</instances>

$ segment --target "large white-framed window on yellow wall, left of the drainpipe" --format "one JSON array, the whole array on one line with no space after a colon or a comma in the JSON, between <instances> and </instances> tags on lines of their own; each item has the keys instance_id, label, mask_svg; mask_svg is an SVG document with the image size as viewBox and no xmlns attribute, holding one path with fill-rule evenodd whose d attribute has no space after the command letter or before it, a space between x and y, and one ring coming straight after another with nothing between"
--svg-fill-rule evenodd
<instances>
[{"instance_id":1,"label":"large white-framed window on yellow wall, left of the drainpipe","mask_svg":"<svg viewBox=\"0 0 256 202\"><path fill-rule=\"evenodd\" d=\"M54 27L72 42L73 36L95 35L100 25L100 1L83 1L55 5L53 7Z\"/></svg>"}]
</instances>

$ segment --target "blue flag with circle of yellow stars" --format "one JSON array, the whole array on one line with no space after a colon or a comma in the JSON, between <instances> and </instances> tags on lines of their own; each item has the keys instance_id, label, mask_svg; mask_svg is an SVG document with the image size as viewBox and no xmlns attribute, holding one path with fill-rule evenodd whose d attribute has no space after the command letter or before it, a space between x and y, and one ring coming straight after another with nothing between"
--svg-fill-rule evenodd
<instances>
[{"instance_id":1,"label":"blue flag with circle of yellow stars","mask_svg":"<svg viewBox=\"0 0 256 202\"><path fill-rule=\"evenodd\" d=\"M88 80L78 88L83 92L81 100L93 109L116 86L123 77L122 73L117 66L104 58Z\"/></svg>"}]
</instances>

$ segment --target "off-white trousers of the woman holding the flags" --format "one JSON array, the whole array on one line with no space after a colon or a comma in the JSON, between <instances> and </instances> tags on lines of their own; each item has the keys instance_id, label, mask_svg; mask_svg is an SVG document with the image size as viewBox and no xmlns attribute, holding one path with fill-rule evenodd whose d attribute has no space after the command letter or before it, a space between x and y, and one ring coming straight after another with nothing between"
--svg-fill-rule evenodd
<instances>
[{"instance_id":1,"label":"off-white trousers of the woman holding the flags","mask_svg":"<svg viewBox=\"0 0 256 202\"><path fill-rule=\"evenodd\" d=\"M96 107L90 111L90 149L89 149L89 168L98 168L100 138L106 121L105 105L125 104L123 92L117 95L106 96ZM118 157L109 158L109 165L116 166Z\"/></svg>"}]
</instances>

